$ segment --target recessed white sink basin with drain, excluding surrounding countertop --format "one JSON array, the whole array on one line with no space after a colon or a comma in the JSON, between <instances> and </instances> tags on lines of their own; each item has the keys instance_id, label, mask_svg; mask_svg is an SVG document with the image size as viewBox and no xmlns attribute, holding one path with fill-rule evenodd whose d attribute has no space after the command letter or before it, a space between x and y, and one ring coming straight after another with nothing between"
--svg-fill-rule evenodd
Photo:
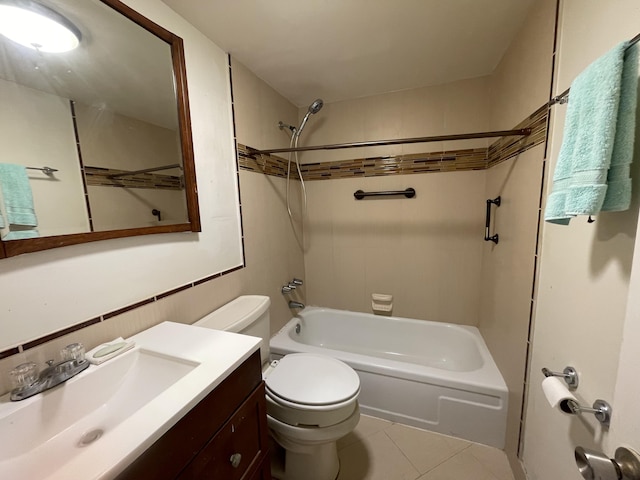
<instances>
[{"instance_id":1,"label":"recessed white sink basin with drain, excluding surrounding countertop","mask_svg":"<svg viewBox=\"0 0 640 480\"><path fill-rule=\"evenodd\" d=\"M0 477L47 477L199 365L136 347L42 394L0 399ZM77 472L77 478L83 475Z\"/></svg>"}]
</instances>

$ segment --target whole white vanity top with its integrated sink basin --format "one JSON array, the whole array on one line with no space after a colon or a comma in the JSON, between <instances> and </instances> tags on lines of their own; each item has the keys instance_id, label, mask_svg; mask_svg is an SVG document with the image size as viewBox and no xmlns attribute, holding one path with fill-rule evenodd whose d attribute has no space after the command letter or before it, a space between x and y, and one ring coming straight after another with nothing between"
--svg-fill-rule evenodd
<instances>
[{"instance_id":1,"label":"whole white vanity top with its integrated sink basin","mask_svg":"<svg viewBox=\"0 0 640 480\"><path fill-rule=\"evenodd\" d=\"M0 397L0 479L111 480L260 347L163 322L136 347L19 402Z\"/></svg>"}]
</instances>

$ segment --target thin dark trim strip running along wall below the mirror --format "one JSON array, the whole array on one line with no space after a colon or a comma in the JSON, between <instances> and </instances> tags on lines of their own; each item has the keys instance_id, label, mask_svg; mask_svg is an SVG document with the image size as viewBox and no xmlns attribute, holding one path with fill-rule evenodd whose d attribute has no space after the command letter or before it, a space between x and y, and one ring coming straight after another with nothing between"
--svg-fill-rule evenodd
<instances>
[{"instance_id":1,"label":"thin dark trim strip running along wall below the mirror","mask_svg":"<svg viewBox=\"0 0 640 480\"><path fill-rule=\"evenodd\" d=\"M84 321L82 323L78 323L76 325L71 325L70 327L64 328L62 330L58 330L57 332L53 332L53 333L50 333L48 335L44 335L42 337L36 338L34 340L31 340L29 342L25 342L22 345L18 345L16 347L12 347L12 348L9 348L7 350L0 351L0 360L2 360L3 358L7 358L7 357L10 357L12 355L16 355L18 353L24 352L25 350L29 350L30 348L37 347L39 345L42 345L43 343L50 342L51 340L55 340L56 338L62 337L64 335L68 335L70 333L77 332L78 330L81 330L83 328L87 328L87 327L90 327L92 325L96 325L96 324L98 324L100 322L105 322L105 321L109 320L110 318L116 317L118 315L122 315L123 313L129 312L131 310L135 310L136 308L140 308L140 307L142 307L144 305L148 305L150 303L157 302L158 300L162 300L163 298L166 298L166 297L168 297L170 295L174 295L174 294L176 294L178 292L181 292L183 290L187 290L189 288L197 287L198 285L201 285L201 284L206 283L206 282L210 282L211 280L214 280L216 278L220 278L223 275L227 275L229 273L235 272L237 270L241 270L243 268L244 268L244 265L240 265L238 267L234 267L232 269L226 270L226 271L221 272L221 273L215 273L213 275L209 275L208 277L202 278L200 280L196 280L195 282L187 283L186 285L182 285L180 287L174 288L174 289L169 290L167 292L163 292L163 293L160 293L158 295L155 295L155 296L153 296L151 298L147 298L145 300L141 300L140 302L136 302L136 303L134 303L132 305L128 305L126 307L119 308L119 309L114 310L112 312L105 313L103 315L100 315L99 317L92 318L91 320L86 320L86 321Z\"/></svg>"}]
</instances>

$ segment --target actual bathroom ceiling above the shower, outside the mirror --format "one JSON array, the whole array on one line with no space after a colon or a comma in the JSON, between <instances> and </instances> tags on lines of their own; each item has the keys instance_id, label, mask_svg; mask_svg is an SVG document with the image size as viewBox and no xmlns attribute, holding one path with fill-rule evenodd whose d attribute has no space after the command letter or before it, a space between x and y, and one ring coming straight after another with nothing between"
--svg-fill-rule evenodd
<instances>
[{"instance_id":1,"label":"actual bathroom ceiling above the shower, outside the mirror","mask_svg":"<svg viewBox=\"0 0 640 480\"><path fill-rule=\"evenodd\" d=\"M163 0L297 106L490 74L534 0Z\"/></svg>"}]
</instances>

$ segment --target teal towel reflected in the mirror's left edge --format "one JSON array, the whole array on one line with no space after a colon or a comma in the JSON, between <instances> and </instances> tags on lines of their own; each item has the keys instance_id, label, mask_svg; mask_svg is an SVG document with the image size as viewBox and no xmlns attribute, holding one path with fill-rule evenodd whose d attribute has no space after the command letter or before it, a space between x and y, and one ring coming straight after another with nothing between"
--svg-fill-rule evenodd
<instances>
[{"instance_id":1,"label":"teal towel reflected in the mirror's left edge","mask_svg":"<svg viewBox=\"0 0 640 480\"><path fill-rule=\"evenodd\" d=\"M26 168L22 165L0 163L0 189L7 214L6 223L10 227L36 227L38 220Z\"/></svg>"}]
</instances>

